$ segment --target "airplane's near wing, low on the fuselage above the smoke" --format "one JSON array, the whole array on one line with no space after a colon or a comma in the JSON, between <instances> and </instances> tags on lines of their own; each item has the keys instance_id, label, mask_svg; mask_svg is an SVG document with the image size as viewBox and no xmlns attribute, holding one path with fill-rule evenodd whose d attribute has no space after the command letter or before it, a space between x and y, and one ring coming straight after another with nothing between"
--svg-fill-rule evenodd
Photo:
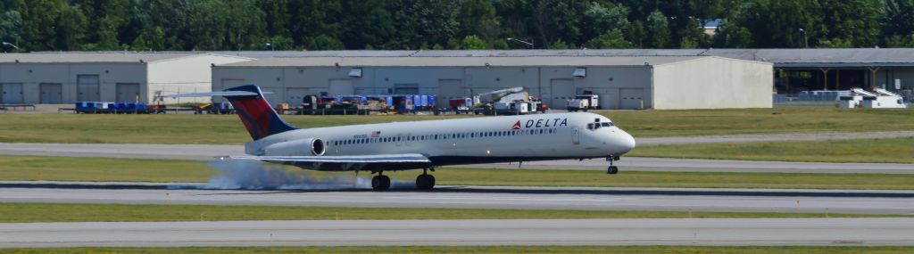
<instances>
[{"instance_id":1,"label":"airplane's near wing, low on the fuselage above the smoke","mask_svg":"<svg viewBox=\"0 0 914 254\"><path fill-rule=\"evenodd\" d=\"M429 158L420 153L345 156L228 156L228 158L289 164L320 171L391 171L420 169L431 165Z\"/></svg>"}]
</instances>

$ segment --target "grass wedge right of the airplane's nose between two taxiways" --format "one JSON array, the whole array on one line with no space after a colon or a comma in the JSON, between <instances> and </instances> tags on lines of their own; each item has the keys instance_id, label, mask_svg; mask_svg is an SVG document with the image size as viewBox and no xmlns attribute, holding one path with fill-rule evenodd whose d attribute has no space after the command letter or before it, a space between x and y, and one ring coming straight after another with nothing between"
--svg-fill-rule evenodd
<instances>
[{"instance_id":1,"label":"grass wedge right of the airplane's nose between two taxiways","mask_svg":"<svg viewBox=\"0 0 914 254\"><path fill-rule=\"evenodd\" d=\"M629 155L828 163L914 164L914 137L895 139L699 143L639 146Z\"/></svg>"}]
</instances>

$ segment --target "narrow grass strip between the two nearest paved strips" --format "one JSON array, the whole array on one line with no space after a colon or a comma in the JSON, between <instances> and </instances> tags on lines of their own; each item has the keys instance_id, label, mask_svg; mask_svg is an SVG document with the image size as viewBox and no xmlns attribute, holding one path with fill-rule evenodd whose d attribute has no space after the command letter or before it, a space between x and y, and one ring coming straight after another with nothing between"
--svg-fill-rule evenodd
<instances>
[{"instance_id":1,"label":"narrow grass strip between the two nearest paved strips","mask_svg":"<svg viewBox=\"0 0 914 254\"><path fill-rule=\"evenodd\" d=\"M687 218L690 216L696 218L825 217L824 213L35 203L0 203L0 214L4 215L0 217L0 223L334 219ZM828 214L828 217L914 217L914 215Z\"/></svg>"}]
</instances>

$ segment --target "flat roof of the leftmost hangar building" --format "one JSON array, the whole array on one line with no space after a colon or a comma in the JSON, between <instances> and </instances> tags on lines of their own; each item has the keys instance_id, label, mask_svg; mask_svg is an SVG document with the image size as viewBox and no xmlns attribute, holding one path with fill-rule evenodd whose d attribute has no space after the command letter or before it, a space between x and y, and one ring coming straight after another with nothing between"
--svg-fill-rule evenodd
<instances>
[{"instance_id":1,"label":"flat roof of the leftmost hangar building","mask_svg":"<svg viewBox=\"0 0 914 254\"><path fill-rule=\"evenodd\" d=\"M0 54L0 63L138 63L164 61L196 56L219 56L209 53L133 53L133 52L35 52ZM234 56L220 56L238 58Z\"/></svg>"}]
</instances>

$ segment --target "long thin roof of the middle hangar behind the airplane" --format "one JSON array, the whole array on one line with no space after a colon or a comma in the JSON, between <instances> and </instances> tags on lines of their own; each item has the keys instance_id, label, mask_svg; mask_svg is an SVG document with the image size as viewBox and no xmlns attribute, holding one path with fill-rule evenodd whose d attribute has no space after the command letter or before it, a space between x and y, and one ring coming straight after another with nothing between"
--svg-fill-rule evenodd
<instances>
[{"instance_id":1,"label":"long thin roof of the middle hangar behind the airplane","mask_svg":"<svg viewBox=\"0 0 914 254\"><path fill-rule=\"evenodd\" d=\"M309 57L262 58L221 65L223 67L484 67L484 66L656 66L668 63L712 58L688 57Z\"/></svg>"}]
</instances>

